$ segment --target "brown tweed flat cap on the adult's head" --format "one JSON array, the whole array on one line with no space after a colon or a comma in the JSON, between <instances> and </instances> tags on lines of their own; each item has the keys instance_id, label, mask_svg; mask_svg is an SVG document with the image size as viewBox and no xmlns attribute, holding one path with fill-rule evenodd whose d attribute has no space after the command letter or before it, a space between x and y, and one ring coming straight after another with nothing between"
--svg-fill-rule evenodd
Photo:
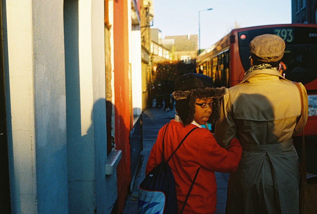
<instances>
[{"instance_id":1,"label":"brown tweed flat cap on the adult's head","mask_svg":"<svg viewBox=\"0 0 317 214\"><path fill-rule=\"evenodd\" d=\"M253 59L261 62L277 62L282 59L285 42L277 35L263 34L250 42L250 54Z\"/></svg>"}]
</instances>

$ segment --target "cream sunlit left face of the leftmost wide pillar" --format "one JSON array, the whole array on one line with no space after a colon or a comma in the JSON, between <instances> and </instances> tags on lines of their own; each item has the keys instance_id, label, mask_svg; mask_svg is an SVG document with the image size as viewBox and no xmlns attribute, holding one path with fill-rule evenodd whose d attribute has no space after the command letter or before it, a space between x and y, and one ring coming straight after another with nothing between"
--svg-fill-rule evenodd
<instances>
[{"instance_id":1,"label":"cream sunlit left face of the leftmost wide pillar","mask_svg":"<svg viewBox=\"0 0 317 214\"><path fill-rule=\"evenodd\" d=\"M37 213L34 70L31 0L6 1L13 157L9 157L12 211ZM16 63L19 62L19 63ZM9 127L8 127L9 128ZM10 146L9 146L10 148Z\"/></svg>"}]
</instances>

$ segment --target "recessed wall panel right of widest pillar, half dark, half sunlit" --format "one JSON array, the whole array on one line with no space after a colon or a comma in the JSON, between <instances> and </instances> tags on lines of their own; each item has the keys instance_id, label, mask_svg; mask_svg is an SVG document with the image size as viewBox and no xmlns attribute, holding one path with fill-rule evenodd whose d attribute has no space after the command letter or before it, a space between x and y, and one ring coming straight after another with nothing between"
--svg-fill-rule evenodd
<instances>
[{"instance_id":1,"label":"recessed wall panel right of widest pillar, half dark, half sunlit","mask_svg":"<svg viewBox=\"0 0 317 214\"><path fill-rule=\"evenodd\" d=\"M94 213L92 0L64 4L69 213Z\"/></svg>"}]
</instances>

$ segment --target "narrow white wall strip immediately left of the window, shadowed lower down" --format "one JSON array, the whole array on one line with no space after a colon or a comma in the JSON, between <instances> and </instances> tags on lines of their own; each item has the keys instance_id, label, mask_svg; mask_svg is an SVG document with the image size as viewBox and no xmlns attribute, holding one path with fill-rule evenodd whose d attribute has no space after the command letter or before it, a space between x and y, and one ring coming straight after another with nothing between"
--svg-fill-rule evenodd
<instances>
[{"instance_id":1,"label":"narrow white wall strip immediately left of the window, shadowed lower down","mask_svg":"<svg viewBox=\"0 0 317 214\"><path fill-rule=\"evenodd\" d=\"M107 185L107 130L106 130L106 65L105 65L105 22L104 1L92 0L92 76L93 76L93 123L95 155L95 197L97 213L110 213L114 203ZM109 176L108 176L109 177ZM116 181L113 176L112 180ZM114 187L117 185L115 183ZM110 197L109 197L110 196Z\"/></svg>"}]
</instances>

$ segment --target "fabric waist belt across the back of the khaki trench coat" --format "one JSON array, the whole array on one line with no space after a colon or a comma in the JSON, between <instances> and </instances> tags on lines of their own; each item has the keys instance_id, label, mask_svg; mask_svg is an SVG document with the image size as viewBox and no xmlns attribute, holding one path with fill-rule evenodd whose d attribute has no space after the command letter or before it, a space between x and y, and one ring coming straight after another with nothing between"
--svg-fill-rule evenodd
<instances>
[{"instance_id":1,"label":"fabric waist belt across the back of the khaki trench coat","mask_svg":"<svg viewBox=\"0 0 317 214\"><path fill-rule=\"evenodd\" d=\"M285 152L293 148L293 140L286 142L256 145L241 142L242 150L245 152Z\"/></svg>"}]
</instances>

